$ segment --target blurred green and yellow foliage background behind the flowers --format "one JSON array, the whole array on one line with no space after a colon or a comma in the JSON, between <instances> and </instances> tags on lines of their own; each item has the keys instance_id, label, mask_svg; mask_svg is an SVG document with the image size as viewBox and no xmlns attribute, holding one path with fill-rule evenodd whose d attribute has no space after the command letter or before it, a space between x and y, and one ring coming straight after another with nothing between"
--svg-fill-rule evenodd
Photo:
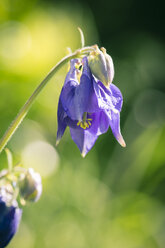
<instances>
[{"instance_id":1,"label":"blurred green and yellow foliage background behind the flowers","mask_svg":"<svg viewBox=\"0 0 165 248\"><path fill-rule=\"evenodd\" d=\"M164 248L162 11L154 1L0 1L0 135L65 48L79 47L80 26L87 44L105 46L113 57L127 143L121 148L109 131L82 159L67 131L57 154L67 66L58 72L9 142L15 160L36 167L44 184L9 247ZM0 163L6 166L4 152Z\"/></svg>"}]
</instances>

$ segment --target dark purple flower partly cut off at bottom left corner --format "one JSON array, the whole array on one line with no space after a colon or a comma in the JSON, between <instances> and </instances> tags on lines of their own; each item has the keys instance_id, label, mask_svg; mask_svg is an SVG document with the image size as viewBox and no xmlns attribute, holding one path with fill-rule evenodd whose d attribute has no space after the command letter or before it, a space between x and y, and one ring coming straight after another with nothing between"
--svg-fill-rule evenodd
<instances>
[{"instance_id":1,"label":"dark purple flower partly cut off at bottom left corner","mask_svg":"<svg viewBox=\"0 0 165 248\"><path fill-rule=\"evenodd\" d=\"M22 210L16 207L7 206L0 196L0 248L7 246L16 233L21 220Z\"/></svg>"}]
</instances>

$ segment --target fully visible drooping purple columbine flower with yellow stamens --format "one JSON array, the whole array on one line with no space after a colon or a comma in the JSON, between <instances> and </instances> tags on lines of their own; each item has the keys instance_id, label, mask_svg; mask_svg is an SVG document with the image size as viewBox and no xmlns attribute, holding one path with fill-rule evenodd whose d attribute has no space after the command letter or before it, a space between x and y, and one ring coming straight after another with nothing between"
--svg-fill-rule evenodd
<instances>
[{"instance_id":1,"label":"fully visible drooping purple columbine flower with yellow stamens","mask_svg":"<svg viewBox=\"0 0 165 248\"><path fill-rule=\"evenodd\" d=\"M91 73L86 57L81 66L79 63L77 59L71 60L59 98L57 144L69 126L71 137L84 157L98 136L107 132L110 126L117 141L125 146L120 132L123 103L120 90L114 84L106 88L97 80ZM82 66L81 72L77 68Z\"/></svg>"}]
</instances>

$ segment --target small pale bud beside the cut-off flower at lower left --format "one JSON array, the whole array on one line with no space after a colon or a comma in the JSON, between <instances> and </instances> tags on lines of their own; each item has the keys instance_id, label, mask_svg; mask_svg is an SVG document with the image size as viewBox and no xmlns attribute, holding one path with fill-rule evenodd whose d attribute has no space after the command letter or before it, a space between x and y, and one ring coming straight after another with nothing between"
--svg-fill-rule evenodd
<instances>
[{"instance_id":1,"label":"small pale bud beside the cut-off flower at lower left","mask_svg":"<svg viewBox=\"0 0 165 248\"><path fill-rule=\"evenodd\" d=\"M23 201L36 202L42 193L42 182L39 173L29 168L24 179L20 182L20 195Z\"/></svg>"}]
</instances>

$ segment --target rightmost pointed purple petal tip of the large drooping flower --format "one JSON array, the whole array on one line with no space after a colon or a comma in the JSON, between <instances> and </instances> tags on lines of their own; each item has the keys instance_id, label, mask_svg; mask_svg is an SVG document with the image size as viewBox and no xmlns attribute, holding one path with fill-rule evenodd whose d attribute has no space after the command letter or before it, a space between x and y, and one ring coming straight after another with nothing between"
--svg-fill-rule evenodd
<instances>
[{"instance_id":1,"label":"rightmost pointed purple petal tip of the large drooping flower","mask_svg":"<svg viewBox=\"0 0 165 248\"><path fill-rule=\"evenodd\" d=\"M109 119L109 124L116 140L121 146L125 147L126 144L120 131L120 114L111 111L111 118Z\"/></svg>"}]
</instances>

